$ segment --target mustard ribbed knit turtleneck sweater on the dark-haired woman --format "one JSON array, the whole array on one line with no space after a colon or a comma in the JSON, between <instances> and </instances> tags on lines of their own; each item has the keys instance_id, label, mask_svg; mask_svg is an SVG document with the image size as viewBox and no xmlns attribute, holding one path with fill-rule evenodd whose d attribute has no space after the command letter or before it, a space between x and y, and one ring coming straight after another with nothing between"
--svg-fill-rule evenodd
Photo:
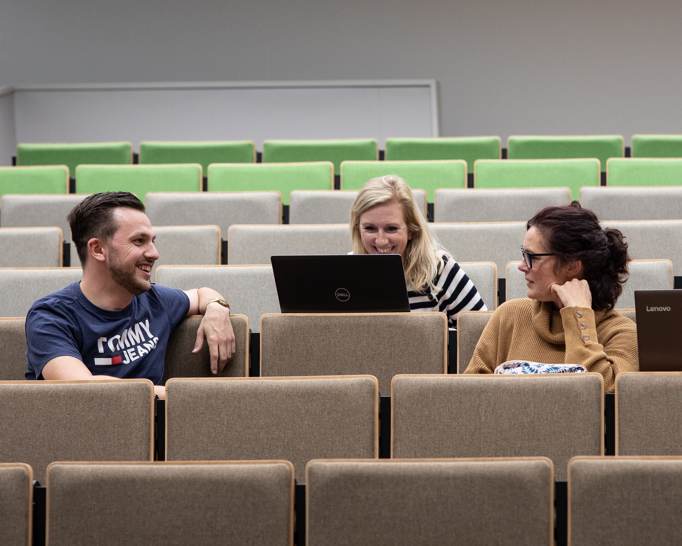
<instances>
[{"instance_id":1,"label":"mustard ribbed knit turtleneck sweater on the dark-haired woman","mask_svg":"<svg viewBox=\"0 0 682 546\"><path fill-rule=\"evenodd\" d=\"M464 373L493 373L507 360L581 364L613 392L617 373L639 369L637 326L617 311L509 300L490 317Z\"/></svg>"}]
</instances>

